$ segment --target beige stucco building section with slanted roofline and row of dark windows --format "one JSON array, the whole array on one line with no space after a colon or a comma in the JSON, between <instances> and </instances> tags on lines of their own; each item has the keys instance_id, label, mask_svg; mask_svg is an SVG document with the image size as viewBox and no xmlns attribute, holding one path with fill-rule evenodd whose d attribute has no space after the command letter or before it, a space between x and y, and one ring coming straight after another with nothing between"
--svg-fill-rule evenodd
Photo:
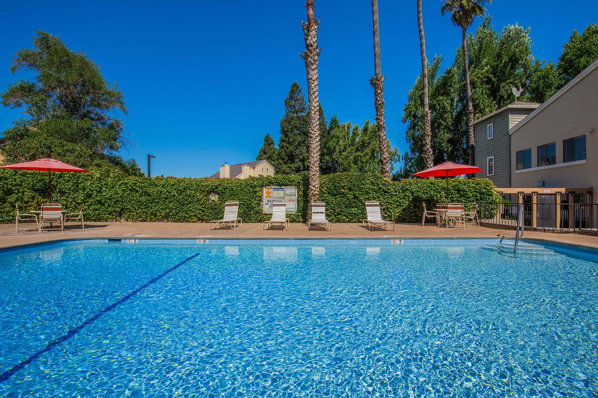
<instances>
[{"instance_id":1,"label":"beige stucco building section with slanted roofline and row of dark windows","mask_svg":"<svg viewBox=\"0 0 598 398\"><path fill-rule=\"evenodd\" d=\"M598 60L510 129L511 187L598 189L597 92Z\"/></svg>"}]
</instances>

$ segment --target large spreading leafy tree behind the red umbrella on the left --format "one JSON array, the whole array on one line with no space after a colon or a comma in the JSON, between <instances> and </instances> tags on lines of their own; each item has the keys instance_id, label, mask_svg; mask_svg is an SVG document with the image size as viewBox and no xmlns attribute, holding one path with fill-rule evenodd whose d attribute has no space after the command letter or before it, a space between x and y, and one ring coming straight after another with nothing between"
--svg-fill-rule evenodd
<instances>
[{"instance_id":1,"label":"large spreading leafy tree behind the red umbrella on the left","mask_svg":"<svg viewBox=\"0 0 598 398\"><path fill-rule=\"evenodd\" d=\"M123 93L109 85L86 54L74 53L58 36L38 30L33 50L23 48L13 57L11 73L28 72L3 92L2 105L22 108L23 116L4 131L8 162L57 158L80 167L118 166L141 175L135 161L118 156L126 140Z\"/></svg>"}]
</instances>

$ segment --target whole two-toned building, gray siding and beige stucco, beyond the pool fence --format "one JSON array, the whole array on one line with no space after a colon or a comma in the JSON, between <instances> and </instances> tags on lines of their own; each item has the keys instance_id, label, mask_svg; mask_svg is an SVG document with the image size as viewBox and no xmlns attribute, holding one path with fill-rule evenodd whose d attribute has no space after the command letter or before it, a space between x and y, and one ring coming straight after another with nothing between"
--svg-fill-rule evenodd
<instances>
[{"instance_id":1,"label":"whole two-toned building, gray siding and beige stucco, beyond the pool fence","mask_svg":"<svg viewBox=\"0 0 598 398\"><path fill-rule=\"evenodd\" d=\"M523 203L526 226L596 232L597 92L598 60L545 103L515 102L472 123L478 176ZM500 217L512 218L507 207Z\"/></svg>"}]
</instances>

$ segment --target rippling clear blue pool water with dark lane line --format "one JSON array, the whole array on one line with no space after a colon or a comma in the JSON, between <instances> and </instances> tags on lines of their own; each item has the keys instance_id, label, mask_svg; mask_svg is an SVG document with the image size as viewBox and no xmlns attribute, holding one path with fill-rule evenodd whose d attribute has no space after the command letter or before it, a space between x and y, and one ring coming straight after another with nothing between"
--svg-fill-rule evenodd
<instances>
[{"instance_id":1,"label":"rippling clear blue pool water with dark lane line","mask_svg":"<svg viewBox=\"0 0 598 398\"><path fill-rule=\"evenodd\" d=\"M481 246L1 252L0 396L598 396L598 264Z\"/></svg>"}]
</instances>

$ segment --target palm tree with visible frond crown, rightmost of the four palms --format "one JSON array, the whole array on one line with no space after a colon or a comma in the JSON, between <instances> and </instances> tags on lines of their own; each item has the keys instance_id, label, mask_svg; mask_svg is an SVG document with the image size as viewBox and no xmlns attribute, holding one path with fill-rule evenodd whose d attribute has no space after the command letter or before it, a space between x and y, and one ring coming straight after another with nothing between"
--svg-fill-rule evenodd
<instances>
[{"instance_id":1,"label":"palm tree with visible frond crown, rightmost of the four palms","mask_svg":"<svg viewBox=\"0 0 598 398\"><path fill-rule=\"evenodd\" d=\"M471 103L471 85L469 84L469 63L467 55L467 27L471 25L475 17L484 15L484 5L490 4L492 0L444 0L440 13L446 15L451 13L451 21L461 27L461 46L463 48L463 69L465 70L465 93L467 94L467 147L469 149L469 164L475 164L474 146L474 106Z\"/></svg>"}]
</instances>

